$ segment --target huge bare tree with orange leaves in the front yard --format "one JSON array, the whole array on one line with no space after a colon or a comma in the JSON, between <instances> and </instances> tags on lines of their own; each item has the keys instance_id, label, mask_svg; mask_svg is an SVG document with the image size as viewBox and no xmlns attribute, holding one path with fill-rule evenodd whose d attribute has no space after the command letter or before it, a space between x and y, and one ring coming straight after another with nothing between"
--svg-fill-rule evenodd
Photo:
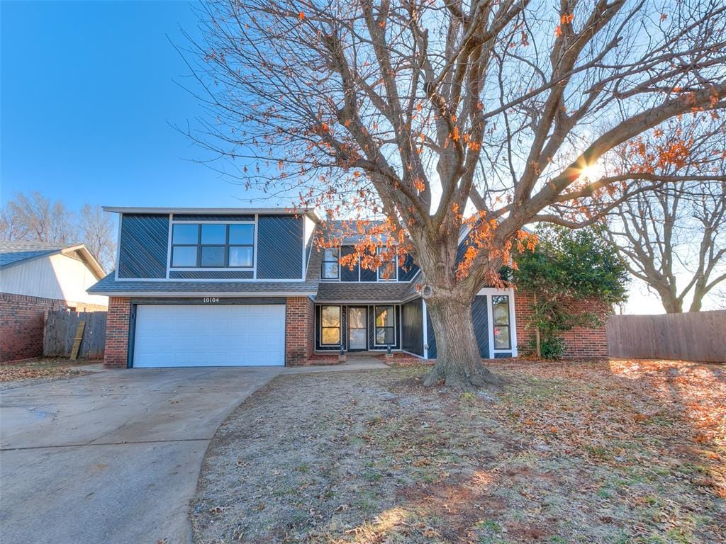
<instances>
[{"instance_id":1,"label":"huge bare tree with orange leaves in the front yard","mask_svg":"<svg viewBox=\"0 0 726 544\"><path fill-rule=\"evenodd\" d=\"M470 304L499 283L513 247L534 244L523 226L592 223L648 190L642 181L697 179L637 173L631 184L636 173L594 176L592 165L669 118L726 105L721 0L201 10L205 38L189 38L185 58L213 118L190 136L242 183L343 214L351 231L385 216L356 257L375 268L410 252L425 273L439 355L426 384L499 382L481 364Z\"/></svg>"}]
</instances>

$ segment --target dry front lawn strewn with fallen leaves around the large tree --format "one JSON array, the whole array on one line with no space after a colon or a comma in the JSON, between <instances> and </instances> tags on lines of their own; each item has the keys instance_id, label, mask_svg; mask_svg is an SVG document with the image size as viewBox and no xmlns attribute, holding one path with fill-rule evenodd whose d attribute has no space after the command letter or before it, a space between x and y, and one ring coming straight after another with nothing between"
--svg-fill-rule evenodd
<instances>
[{"instance_id":1,"label":"dry front lawn strewn with fallen leaves around the large tree","mask_svg":"<svg viewBox=\"0 0 726 544\"><path fill-rule=\"evenodd\" d=\"M279 376L210 445L197 544L724 543L726 367L492 365Z\"/></svg>"}]
</instances>

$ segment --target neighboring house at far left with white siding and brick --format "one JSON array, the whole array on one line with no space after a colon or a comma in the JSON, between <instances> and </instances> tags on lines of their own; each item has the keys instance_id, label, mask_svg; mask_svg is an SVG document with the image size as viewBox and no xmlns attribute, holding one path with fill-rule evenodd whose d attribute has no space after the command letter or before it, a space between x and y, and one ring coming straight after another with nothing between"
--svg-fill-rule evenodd
<instances>
[{"instance_id":1,"label":"neighboring house at far left with white siding and brick","mask_svg":"<svg viewBox=\"0 0 726 544\"><path fill-rule=\"evenodd\" d=\"M106 310L104 276L83 244L0 242L0 363L43 355L46 312Z\"/></svg>"}]
</instances>

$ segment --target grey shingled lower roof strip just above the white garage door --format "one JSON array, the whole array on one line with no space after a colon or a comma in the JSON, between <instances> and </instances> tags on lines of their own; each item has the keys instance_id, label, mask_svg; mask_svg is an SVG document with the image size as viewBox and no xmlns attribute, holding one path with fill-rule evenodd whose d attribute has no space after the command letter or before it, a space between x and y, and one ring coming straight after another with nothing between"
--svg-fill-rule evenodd
<instances>
[{"instance_id":1,"label":"grey shingled lower roof strip just above the white garage door","mask_svg":"<svg viewBox=\"0 0 726 544\"><path fill-rule=\"evenodd\" d=\"M184 295L203 295L207 297L224 294L250 296L293 297L313 295L317 291L317 281L114 281L113 273L88 289L89 293L107 294L111 297L181 297Z\"/></svg>"}]
</instances>

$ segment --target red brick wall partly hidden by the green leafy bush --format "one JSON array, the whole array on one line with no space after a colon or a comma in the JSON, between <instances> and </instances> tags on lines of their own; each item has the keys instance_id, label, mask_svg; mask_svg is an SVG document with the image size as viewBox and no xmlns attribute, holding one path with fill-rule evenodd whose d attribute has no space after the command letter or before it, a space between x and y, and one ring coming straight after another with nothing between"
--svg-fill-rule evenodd
<instances>
[{"instance_id":1,"label":"red brick wall partly hidden by the green leafy bush","mask_svg":"<svg viewBox=\"0 0 726 544\"><path fill-rule=\"evenodd\" d=\"M518 290L515 292L514 305L517 321L517 345L520 355L529 351L530 339L534 338L534 331L526 328L531 318L531 306L534 302L534 295L530 292ZM582 311L596 311L608 313L608 308L600 305L599 311L593 308L592 302L587 300L574 300L570 307L577 313ZM575 327L562 334L565 340L564 357L568 359L597 359L608 357L608 335L605 325L597 329L587 327Z\"/></svg>"}]
</instances>

